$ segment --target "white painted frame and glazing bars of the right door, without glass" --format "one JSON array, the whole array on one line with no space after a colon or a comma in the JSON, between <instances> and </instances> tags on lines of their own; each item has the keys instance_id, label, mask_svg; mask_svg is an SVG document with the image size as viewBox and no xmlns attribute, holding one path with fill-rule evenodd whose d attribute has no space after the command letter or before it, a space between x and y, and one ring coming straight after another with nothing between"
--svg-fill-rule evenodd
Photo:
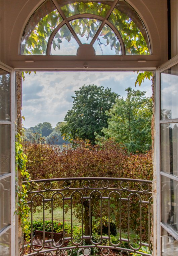
<instances>
[{"instance_id":1,"label":"white painted frame and glazing bars of the right door, without glass","mask_svg":"<svg viewBox=\"0 0 178 256\"><path fill-rule=\"evenodd\" d=\"M154 207L156 208L156 218L154 218L154 221L157 221L156 225L154 226L154 235L156 233L157 237L157 253L154 255L161 255L162 254L162 227L169 231L169 233L177 240L177 236L174 234L174 232L171 231L171 229L167 228L162 222L161 222L161 176L168 177L169 174L164 173L161 171L161 134L160 134L160 124L163 123L178 123L178 119L170 119L170 120L161 120L160 119L160 105L161 105L161 97L160 97L160 90L161 90L161 73L174 65L178 64L178 55L174 58L170 59L169 61L162 64L159 68L156 70L156 79L155 79L155 140L154 140L154 169L156 173L156 195L155 199L156 202L154 203ZM170 177L169 177L170 178ZM171 179L172 179L171 175ZM175 177L174 180L177 180ZM154 209L155 209L154 208ZM154 211L153 211L153 216ZM156 252L156 251L155 251Z\"/></svg>"}]
</instances>

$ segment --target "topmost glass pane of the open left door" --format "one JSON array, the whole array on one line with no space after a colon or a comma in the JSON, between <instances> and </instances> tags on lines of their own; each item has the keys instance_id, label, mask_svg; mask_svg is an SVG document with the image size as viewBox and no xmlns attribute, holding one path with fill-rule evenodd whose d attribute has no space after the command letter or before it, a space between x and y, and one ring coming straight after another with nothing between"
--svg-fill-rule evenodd
<instances>
[{"instance_id":1,"label":"topmost glass pane of the open left door","mask_svg":"<svg viewBox=\"0 0 178 256\"><path fill-rule=\"evenodd\" d=\"M0 69L0 120L10 120L10 74Z\"/></svg>"}]
</instances>

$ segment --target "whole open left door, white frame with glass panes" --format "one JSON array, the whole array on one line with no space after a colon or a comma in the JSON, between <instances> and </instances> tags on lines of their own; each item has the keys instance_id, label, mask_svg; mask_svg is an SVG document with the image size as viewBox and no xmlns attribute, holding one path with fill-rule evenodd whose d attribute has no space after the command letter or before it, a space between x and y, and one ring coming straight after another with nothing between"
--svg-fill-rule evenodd
<instances>
[{"instance_id":1,"label":"whole open left door, white frame with glass panes","mask_svg":"<svg viewBox=\"0 0 178 256\"><path fill-rule=\"evenodd\" d=\"M15 72L0 62L0 255L15 254Z\"/></svg>"}]
</instances>

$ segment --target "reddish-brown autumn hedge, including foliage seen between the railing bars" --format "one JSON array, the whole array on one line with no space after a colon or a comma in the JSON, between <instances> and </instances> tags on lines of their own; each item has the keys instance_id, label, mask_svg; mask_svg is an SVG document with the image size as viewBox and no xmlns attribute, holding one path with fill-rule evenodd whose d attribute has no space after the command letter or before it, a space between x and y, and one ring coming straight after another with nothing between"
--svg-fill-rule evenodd
<instances>
[{"instance_id":1,"label":"reddish-brown autumn hedge, including foliage seen between the railing bars","mask_svg":"<svg viewBox=\"0 0 178 256\"><path fill-rule=\"evenodd\" d=\"M65 178L65 177L116 177L116 178L132 178L142 180L152 180L152 155L151 151L146 154L130 154L118 143L108 140L103 142L102 146L92 146L88 141L76 140L73 147L64 146L63 150L57 145L48 145L24 142L24 151L28 157L27 169L32 180L49 179L49 178ZM137 184L138 185L138 184ZM131 184L133 189L137 189L134 183ZM125 192L123 192L125 193ZM113 203L117 202L117 198L113 198ZM139 200L138 197L130 198L132 204L130 206L130 228L139 234ZM146 200L146 197L145 197ZM111 215L115 216L116 224L119 223L119 217L115 215L119 213L117 207L111 211ZM80 205L75 207L75 216L80 219ZM60 207L60 205L56 205ZM85 202L84 202L85 207ZM96 203L93 207L93 216L95 219L99 217L100 210ZM127 202L122 204L122 229L127 231ZM70 208L70 206L69 206ZM87 204L86 204L87 209ZM103 206L103 211L107 215L107 203ZM103 212L104 214L104 212ZM87 216L87 215L86 215ZM84 216L85 219L85 216ZM142 206L142 240L147 241L148 236L148 206Z\"/></svg>"}]
</instances>

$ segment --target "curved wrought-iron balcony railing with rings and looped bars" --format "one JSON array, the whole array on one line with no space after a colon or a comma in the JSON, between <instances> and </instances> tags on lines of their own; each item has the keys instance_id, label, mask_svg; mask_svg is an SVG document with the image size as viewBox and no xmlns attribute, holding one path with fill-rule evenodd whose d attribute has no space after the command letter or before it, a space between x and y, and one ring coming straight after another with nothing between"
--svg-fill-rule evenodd
<instances>
[{"instance_id":1,"label":"curved wrought-iron balcony railing with rings and looped bars","mask_svg":"<svg viewBox=\"0 0 178 256\"><path fill-rule=\"evenodd\" d=\"M33 237L33 211L34 207L41 207L43 212L43 241L42 247L36 248L31 241L30 247L32 253L27 255L36 255L39 253L56 252L56 255L66 250L72 253L73 249L81 251L83 248L83 255L85 252L90 252L92 248L100 250L101 255L109 255L110 250L118 250L120 255L129 255L129 253L137 253L140 255L151 255L139 252L142 246L146 246L151 251L150 243L150 226L151 226L151 200L152 200L152 181L145 181L139 179L127 179L127 178L110 178L110 177L74 177L74 178L56 178L56 179L44 179L33 180L23 182L28 184L28 203L31 207L31 237ZM55 198L60 196L61 198ZM76 196L76 197L75 197ZM134 198L134 199L133 199ZM136 200L136 201L135 201ZM116 209L113 209L113 202L115 202ZM51 240L53 240L53 207L54 205L62 208L63 212L63 238L62 243L59 246L54 244L54 249L45 248L45 209L51 209ZM71 235L65 237L64 232L64 212L65 206L68 205L71 211ZM98 205L98 206L96 206ZM80 209L81 211L81 230L82 235L80 241L77 243L73 236L73 211L74 209ZM97 208L98 207L98 208ZM87 209L87 210L86 210ZM134 218L132 211L137 216L137 223L133 224ZM88 212L87 212L88 211ZM100 238L99 241L93 241L92 233L92 220L93 215L97 212L97 216L100 219ZM147 215L147 226L142 227L142 215ZM87 215L88 214L88 215ZM88 216L88 217L86 217ZM96 216L96 215L95 215ZM102 220L103 216L108 218L108 233L102 232ZM88 224L86 218L89 219ZM117 231L118 242L114 244L112 237L110 236L110 221L112 218L117 219ZM124 220L124 221L123 221ZM127 222L127 224L126 224ZM85 227L88 225L88 230L85 232ZM134 247L131 242L130 233L134 230L134 225L138 229L139 243ZM127 227L127 238L122 237L122 228ZM143 239L143 228L147 234ZM146 231L145 231L146 230ZM135 230L136 232L136 230ZM33 240L33 239L32 239ZM105 241L105 242L104 242ZM107 241L107 243L106 243ZM106 243L107 246L103 243ZM123 243L127 243L128 248L123 247ZM23 244L23 249L26 245ZM88 249L88 250L84 250ZM23 250L22 250L23 251ZM51 254L52 255L52 254Z\"/></svg>"}]
</instances>

